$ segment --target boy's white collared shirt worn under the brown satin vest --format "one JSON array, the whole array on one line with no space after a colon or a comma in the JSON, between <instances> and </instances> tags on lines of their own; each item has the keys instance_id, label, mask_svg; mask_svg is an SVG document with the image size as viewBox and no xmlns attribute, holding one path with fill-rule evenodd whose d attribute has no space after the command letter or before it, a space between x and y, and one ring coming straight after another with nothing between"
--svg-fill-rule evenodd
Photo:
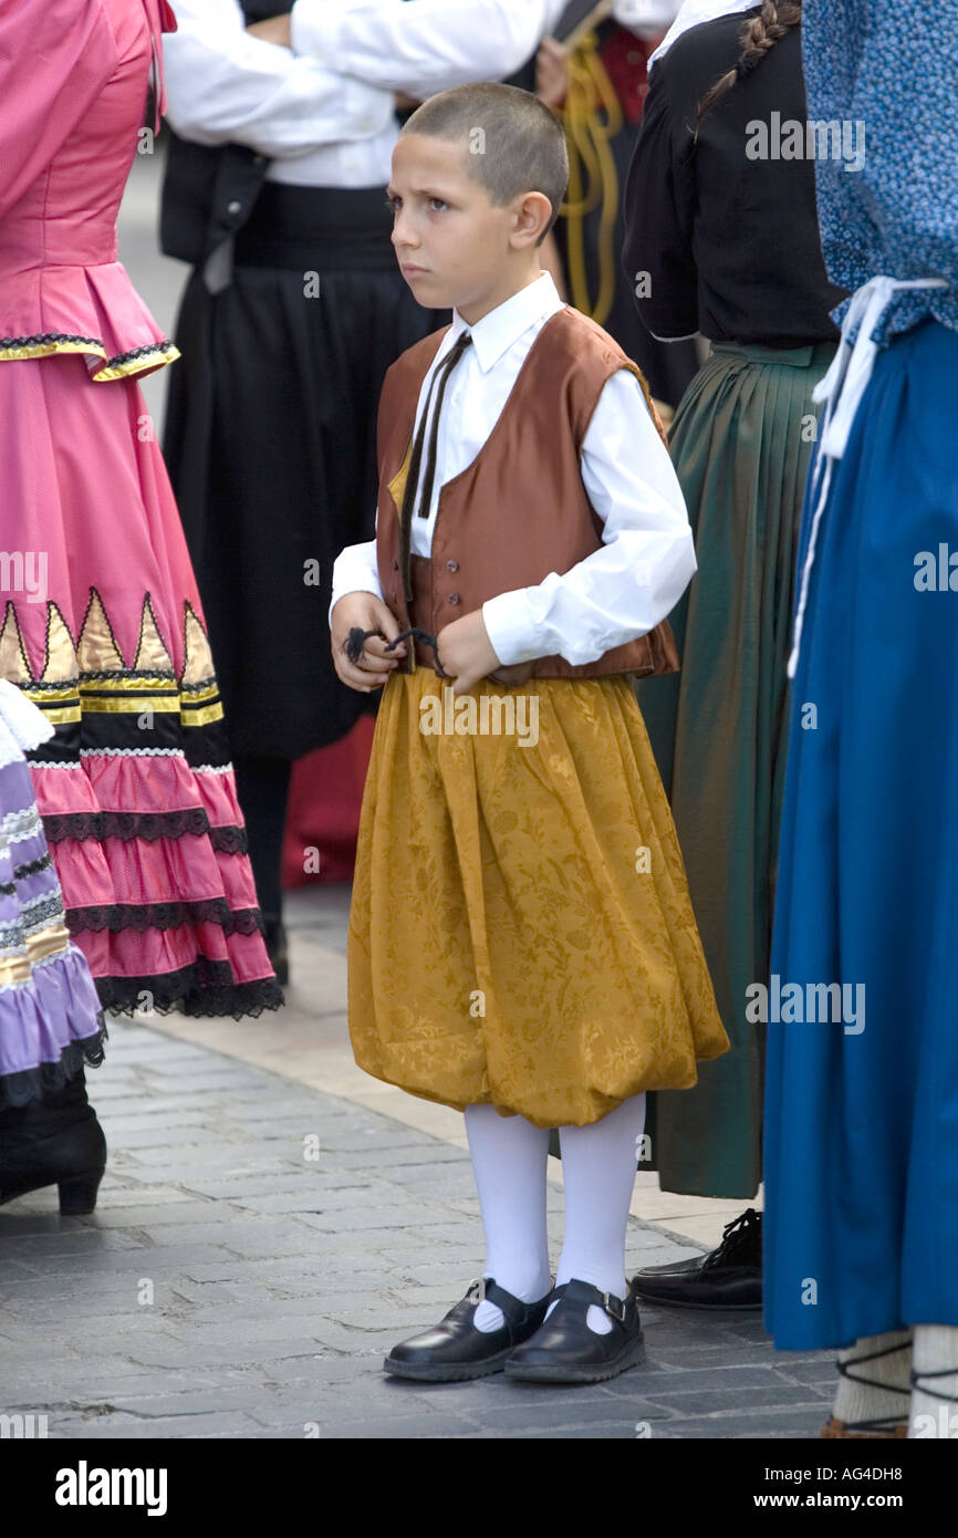
<instances>
[{"instance_id":1,"label":"boy's white collared shirt worn under the brown satin vest","mask_svg":"<svg viewBox=\"0 0 958 1538\"><path fill-rule=\"evenodd\" d=\"M423 380L417 426L432 374L466 329L472 346L449 377L429 517L420 518L418 509L412 517L414 555L429 555L443 484L483 448L532 343L563 308L543 272L475 326L467 328L458 311L452 312L452 326ZM583 440L581 475L603 523L603 546L564 574L551 572L537 586L483 604L489 640L504 666L554 654L577 664L595 661L664 620L695 572L683 494L638 380L627 369L614 374L598 398ZM507 551L503 566L509 569ZM357 591L383 597L375 540L349 544L335 561L332 604Z\"/></svg>"}]
</instances>

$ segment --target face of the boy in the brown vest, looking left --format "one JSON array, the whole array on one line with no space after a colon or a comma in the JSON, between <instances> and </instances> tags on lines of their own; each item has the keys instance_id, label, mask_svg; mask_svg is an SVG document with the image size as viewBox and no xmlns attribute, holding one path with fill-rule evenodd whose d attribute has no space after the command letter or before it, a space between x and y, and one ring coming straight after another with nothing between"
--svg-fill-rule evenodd
<instances>
[{"instance_id":1,"label":"face of the boy in the brown vest, looking left","mask_svg":"<svg viewBox=\"0 0 958 1538\"><path fill-rule=\"evenodd\" d=\"M515 292L517 269L535 240L521 234L523 197L497 208L469 175L467 155L451 140L403 134L392 152L389 197L392 245L415 298L431 309L455 306L475 325Z\"/></svg>"}]
</instances>

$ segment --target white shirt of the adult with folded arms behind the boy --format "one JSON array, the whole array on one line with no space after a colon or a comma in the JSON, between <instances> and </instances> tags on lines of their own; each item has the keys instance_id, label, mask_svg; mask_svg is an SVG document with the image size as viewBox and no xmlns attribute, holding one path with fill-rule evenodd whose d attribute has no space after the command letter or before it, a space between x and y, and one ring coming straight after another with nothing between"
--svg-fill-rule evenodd
<instances>
[{"instance_id":1,"label":"white shirt of the adult with folded arms behind the boy","mask_svg":"<svg viewBox=\"0 0 958 1538\"><path fill-rule=\"evenodd\" d=\"M386 186L395 91L501 80L535 52L563 0L297 0L294 51L252 37L238 0L175 0L163 37L166 115L198 145L248 145L266 180Z\"/></svg>"}]
</instances>

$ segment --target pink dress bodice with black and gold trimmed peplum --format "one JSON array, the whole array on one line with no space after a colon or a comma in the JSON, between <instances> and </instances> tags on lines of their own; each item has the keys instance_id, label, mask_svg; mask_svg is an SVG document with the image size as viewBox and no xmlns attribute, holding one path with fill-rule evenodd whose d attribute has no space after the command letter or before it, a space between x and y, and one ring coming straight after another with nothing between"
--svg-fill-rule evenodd
<instances>
[{"instance_id":1,"label":"pink dress bodice with black and gold trimmed peplum","mask_svg":"<svg viewBox=\"0 0 958 1538\"><path fill-rule=\"evenodd\" d=\"M129 168L152 148L149 71L174 28L165 0L5 5L0 361L83 352L100 383L178 357L117 261ZM160 108L158 69L155 82Z\"/></svg>"}]
</instances>

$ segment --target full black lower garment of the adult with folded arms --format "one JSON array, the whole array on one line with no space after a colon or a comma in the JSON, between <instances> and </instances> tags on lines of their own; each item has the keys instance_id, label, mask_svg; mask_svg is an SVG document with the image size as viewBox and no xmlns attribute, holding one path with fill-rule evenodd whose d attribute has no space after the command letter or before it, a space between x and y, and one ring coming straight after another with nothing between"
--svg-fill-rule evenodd
<instances>
[{"instance_id":1,"label":"full black lower garment of the adult with folded arms","mask_svg":"<svg viewBox=\"0 0 958 1538\"><path fill-rule=\"evenodd\" d=\"M194 271L163 451L235 757L298 758L377 700L335 677L332 563L375 532L383 375L447 312L423 309L384 189L264 183L232 283Z\"/></svg>"}]
</instances>

